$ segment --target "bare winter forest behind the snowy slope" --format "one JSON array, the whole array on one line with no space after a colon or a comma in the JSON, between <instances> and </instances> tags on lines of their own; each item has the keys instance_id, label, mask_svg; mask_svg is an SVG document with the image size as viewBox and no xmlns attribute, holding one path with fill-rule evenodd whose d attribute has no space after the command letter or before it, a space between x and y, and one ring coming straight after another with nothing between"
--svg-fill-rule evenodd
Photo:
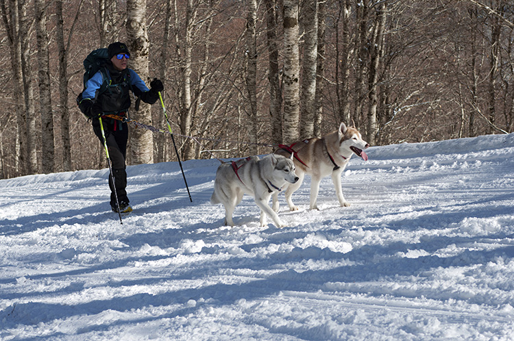
<instances>
[{"instance_id":1,"label":"bare winter forest behind the snowy slope","mask_svg":"<svg viewBox=\"0 0 514 341\"><path fill-rule=\"evenodd\" d=\"M126 42L182 160L270 153L342 121L371 145L514 131L511 0L0 0L0 178L106 167L75 99ZM134 101L132 101L134 105ZM160 129L160 103L131 117ZM128 164L176 160L131 127Z\"/></svg>"}]
</instances>

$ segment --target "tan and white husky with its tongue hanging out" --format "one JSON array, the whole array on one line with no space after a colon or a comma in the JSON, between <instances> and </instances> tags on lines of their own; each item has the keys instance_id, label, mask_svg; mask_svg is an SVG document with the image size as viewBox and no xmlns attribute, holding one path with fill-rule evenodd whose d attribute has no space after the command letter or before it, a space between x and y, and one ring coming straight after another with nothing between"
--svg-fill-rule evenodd
<instances>
[{"instance_id":1,"label":"tan and white husky with its tongue hanging out","mask_svg":"<svg viewBox=\"0 0 514 341\"><path fill-rule=\"evenodd\" d=\"M281 144L276 154L289 156L294 155L296 174L299 180L295 184L287 184L285 196L289 210L298 210L298 207L291 201L291 195L302 185L304 176L310 175L310 210L317 209L317 196L319 183L323 177L332 175L332 182L336 190L337 199L341 206L350 206L343 197L341 189L341 173L345 169L350 157L355 153L363 160L367 155L363 151L369 144L363 140L357 129L346 127L344 123L339 129L332 131L322 138L309 138L286 146ZM273 193L273 210L278 212L278 193Z\"/></svg>"}]
</instances>

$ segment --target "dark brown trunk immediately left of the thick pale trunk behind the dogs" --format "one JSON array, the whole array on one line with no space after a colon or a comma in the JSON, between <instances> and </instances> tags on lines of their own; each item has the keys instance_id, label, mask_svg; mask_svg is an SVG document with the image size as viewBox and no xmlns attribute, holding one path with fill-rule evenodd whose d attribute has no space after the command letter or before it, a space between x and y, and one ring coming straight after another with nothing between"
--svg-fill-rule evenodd
<instances>
[{"instance_id":1,"label":"dark brown trunk immediately left of the thick pale trunk behind the dogs","mask_svg":"<svg viewBox=\"0 0 514 341\"><path fill-rule=\"evenodd\" d=\"M271 116L271 136L273 143L281 144L282 140L282 90L280 90L280 74L278 71L277 45L277 13L276 0L265 0L268 45L268 81L269 81L269 115Z\"/></svg>"}]
</instances>

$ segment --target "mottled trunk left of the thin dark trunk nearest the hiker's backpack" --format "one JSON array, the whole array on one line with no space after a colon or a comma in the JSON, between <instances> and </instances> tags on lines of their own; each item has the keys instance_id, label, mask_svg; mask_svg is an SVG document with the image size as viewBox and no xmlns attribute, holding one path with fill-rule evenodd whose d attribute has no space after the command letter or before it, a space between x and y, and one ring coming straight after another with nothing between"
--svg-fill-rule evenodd
<instances>
[{"instance_id":1,"label":"mottled trunk left of the thin dark trunk nearest the hiker's backpack","mask_svg":"<svg viewBox=\"0 0 514 341\"><path fill-rule=\"evenodd\" d=\"M42 173L54 171L53 111L50 90L50 66L45 1L35 0L36 36L38 41L38 80L41 111L41 161Z\"/></svg>"}]
</instances>

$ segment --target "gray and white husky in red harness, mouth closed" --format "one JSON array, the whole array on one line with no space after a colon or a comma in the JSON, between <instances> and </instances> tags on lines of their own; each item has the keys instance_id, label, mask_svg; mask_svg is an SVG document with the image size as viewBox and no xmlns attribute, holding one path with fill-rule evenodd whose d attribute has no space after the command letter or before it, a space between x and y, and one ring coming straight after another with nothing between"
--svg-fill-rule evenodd
<instances>
[{"instance_id":1,"label":"gray and white husky in red harness, mouth closed","mask_svg":"<svg viewBox=\"0 0 514 341\"><path fill-rule=\"evenodd\" d=\"M282 190L286 184L298 181L295 164L291 158L269 154L262 159L258 156L247 157L237 162L223 163L216 171L215 190L210 203L225 206L225 225L234 226L232 214L243 194L254 197L260 207L260 226L266 225L266 214L273 218L276 227L285 227L282 220L269 206L271 194Z\"/></svg>"}]
</instances>

